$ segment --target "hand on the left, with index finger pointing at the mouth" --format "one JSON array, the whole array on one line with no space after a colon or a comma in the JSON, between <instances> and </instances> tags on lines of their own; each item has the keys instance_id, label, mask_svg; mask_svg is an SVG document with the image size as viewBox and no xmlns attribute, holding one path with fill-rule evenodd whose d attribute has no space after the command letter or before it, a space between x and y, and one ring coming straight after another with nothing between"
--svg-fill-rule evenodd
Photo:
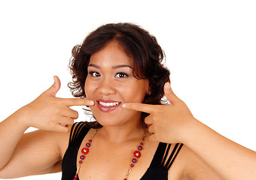
<instances>
[{"instance_id":1,"label":"hand on the left, with index finger pointing at the mouth","mask_svg":"<svg viewBox=\"0 0 256 180\"><path fill-rule=\"evenodd\" d=\"M72 106L93 106L92 100L81 98L56 98L60 88L59 77L54 76L54 84L43 92L35 101L20 108L16 113L22 115L20 123L26 128L36 127L41 130L68 132L69 126L78 118L78 112Z\"/></svg>"}]
</instances>

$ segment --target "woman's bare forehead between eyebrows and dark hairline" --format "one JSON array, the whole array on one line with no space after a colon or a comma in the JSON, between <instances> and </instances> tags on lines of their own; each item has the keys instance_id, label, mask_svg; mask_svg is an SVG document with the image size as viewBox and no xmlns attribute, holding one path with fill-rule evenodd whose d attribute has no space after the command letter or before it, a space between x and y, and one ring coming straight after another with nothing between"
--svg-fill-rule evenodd
<instances>
[{"instance_id":1,"label":"woman's bare forehead between eyebrows and dark hairline","mask_svg":"<svg viewBox=\"0 0 256 180\"><path fill-rule=\"evenodd\" d=\"M133 67L133 58L126 55L120 43L112 40L90 56L90 64L100 65L101 67L114 65L130 65Z\"/></svg>"}]
</instances>

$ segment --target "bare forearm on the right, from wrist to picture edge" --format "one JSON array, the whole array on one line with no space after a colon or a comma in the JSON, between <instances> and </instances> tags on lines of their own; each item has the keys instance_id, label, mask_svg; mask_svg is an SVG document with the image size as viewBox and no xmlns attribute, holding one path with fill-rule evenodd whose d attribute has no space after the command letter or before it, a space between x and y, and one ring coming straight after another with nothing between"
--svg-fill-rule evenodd
<instances>
[{"instance_id":1,"label":"bare forearm on the right, from wrist to picture edge","mask_svg":"<svg viewBox=\"0 0 256 180\"><path fill-rule=\"evenodd\" d=\"M256 177L256 152L221 136L200 121L187 131L184 143L195 151L223 179Z\"/></svg>"}]
</instances>

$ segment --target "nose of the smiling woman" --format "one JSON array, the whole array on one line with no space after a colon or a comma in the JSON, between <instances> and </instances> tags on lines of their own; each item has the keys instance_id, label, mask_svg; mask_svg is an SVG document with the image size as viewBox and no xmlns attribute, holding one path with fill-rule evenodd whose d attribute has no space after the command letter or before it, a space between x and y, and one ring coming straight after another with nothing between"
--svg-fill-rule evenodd
<instances>
[{"instance_id":1,"label":"nose of the smiling woman","mask_svg":"<svg viewBox=\"0 0 256 180\"><path fill-rule=\"evenodd\" d=\"M114 89L114 83L111 83L111 80L108 80L107 78L102 78L99 83L98 91L100 95L114 95L116 92Z\"/></svg>"}]
</instances>

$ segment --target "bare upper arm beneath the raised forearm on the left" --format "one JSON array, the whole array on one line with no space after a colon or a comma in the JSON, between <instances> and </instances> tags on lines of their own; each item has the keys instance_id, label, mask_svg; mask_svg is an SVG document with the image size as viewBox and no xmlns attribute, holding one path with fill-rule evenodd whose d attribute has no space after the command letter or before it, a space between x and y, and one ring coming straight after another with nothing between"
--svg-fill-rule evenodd
<instances>
[{"instance_id":1,"label":"bare upper arm beneath the raised forearm on the left","mask_svg":"<svg viewBox=\"0 0 256 180\"><path fill-rule=\"evenodd\" d=\"M0 170L0 178L19 178L61 171L62 146L68 145L69 133L36 130L24 134L8 163Z\"/></svg>"}]
</instances>

